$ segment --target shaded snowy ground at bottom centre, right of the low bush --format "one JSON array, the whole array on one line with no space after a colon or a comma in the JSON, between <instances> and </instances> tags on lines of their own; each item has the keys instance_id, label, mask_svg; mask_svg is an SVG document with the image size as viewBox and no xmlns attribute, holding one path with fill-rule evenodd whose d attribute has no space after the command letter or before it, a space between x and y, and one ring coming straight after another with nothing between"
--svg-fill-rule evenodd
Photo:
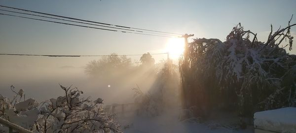
<instances>
[{"instance_id":1,"label":"shaded snowy ground at bottom centre, right of the low bush","mask_svg":"<svg viewBox=\"0 0 296 133\"><path fill-rule=\"evenodd\" d=\"M205 122L178 121L178 115L165 113L156 117L118 118L124 133L254 133L253 126L246 130L230 129L229 119L215 119ZM228 124L228 128L225 127Z\"/></svg>"}]
</instances>

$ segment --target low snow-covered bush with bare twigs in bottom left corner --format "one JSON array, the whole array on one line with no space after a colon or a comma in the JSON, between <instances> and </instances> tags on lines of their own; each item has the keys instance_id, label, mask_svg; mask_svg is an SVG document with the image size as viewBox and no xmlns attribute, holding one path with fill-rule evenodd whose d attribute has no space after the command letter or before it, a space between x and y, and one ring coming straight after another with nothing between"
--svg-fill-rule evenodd
<instances>
[{"instance_id":1,"label":"low snow-covered bush with bare twigs in bottom left corner","mask_svg":"<svg viewBox=\"0 0 296 133\"><path fill-rule=\"evenodd\" d=\"M0 117L35 133L121 133L114 115L109 115L101 106L103 100L91 101L77 88L60 85L65 95L40 104L26 100L23 90L9 100L0 95ZM20 98L19 98L20 97ZM19 98L19 99L18 99ZM6 131L3 126L0 130Z\"/></svg>"}]
</instances>

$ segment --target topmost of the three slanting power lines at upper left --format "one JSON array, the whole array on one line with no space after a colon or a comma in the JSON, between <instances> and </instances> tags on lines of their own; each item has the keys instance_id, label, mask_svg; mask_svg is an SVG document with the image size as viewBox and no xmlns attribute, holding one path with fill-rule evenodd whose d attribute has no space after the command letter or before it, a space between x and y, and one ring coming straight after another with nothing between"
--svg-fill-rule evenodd
<instances>
[{"instance_id":1,"label":"topmost of the three slanting power lines at upper left","mask_svg":"<svg viewBox=\"0 0 296 133\"><path fill-rule=\"evenodd\" d=\"M6 7L6 8L11 8L11 9L16 9L16 10L22 10L22 11L27 11L27 12L33 12L33 13L38 13L38 14L43 14L43 15L49 15L49 16L55 16L55 17L61 17L61 18L79 20L79 21L84 21L84 22L97 23L97 24L108 25L108 26L115 26L115 27L121 27L121 28L127 28L127 29L143 30L143 31L150 31L150 32L157 32L157 33L169 33L169 32L160 32L160 31L147 30L147 29L141 29L141 28L127 27L127 26L120 26L120 25L112 25L112 24L108 24L108 23L101 23L101 22L95 22L95 21L77 19L77 18L72 18L72 17L65 17L65 16L60 16L60 15L54 15L54 14L49 14L49 13L37 12L37 11L26 10L26 9L20 9L20 8L9 7L9 6L4 6L4 5L0 5L0 7ZM181 33L170 33L170 34L183 35Z\"/></svg>"}]
</instances>

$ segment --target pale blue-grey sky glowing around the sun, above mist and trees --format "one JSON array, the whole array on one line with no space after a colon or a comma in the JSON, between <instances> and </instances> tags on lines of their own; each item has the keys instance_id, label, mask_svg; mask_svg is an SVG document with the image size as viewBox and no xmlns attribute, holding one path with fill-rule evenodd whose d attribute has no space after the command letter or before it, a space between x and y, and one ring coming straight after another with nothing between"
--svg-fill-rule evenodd
<instances>
[{"instance_id":1,"label":"pale blue-grey sky glowing around the sun, above mist and trees","mask_svg":"<svg viewBox=\"0 0 296 133\"><path fill-rule=\"evenodd\" d=\"M226 35L238 23L241 23L245 30L258 33L260 41L266 41L270 24L275 31L279 26L286 27L292 14L296 15L296 0L0 0L0 5L114 25L194 34L189 42L192 38L203 37L224 41ZM6 12L0 11L0 13ZM292 24L296 23L295 17ZM292 35L296 36L296 27L292 28ZM0 53L46 55L163 53L167 52L169 42L172 41L166 37L102 31L0 15ZM296 48L290 53L296 54ZM153 56L156 61L166 57L166 55ZM131 58L140 59L139 56ZM22 80L30 76L38 79L40 75L46 75L50 73L48 71L61 66L81 68L82 72L78 73L83 74L83 66L95 59L98 58L1 55L0 79L7 78L5 80L7 84L3 81L0 87L17 82L13 79ZM32 69L40 75L24 76L29 71L32 72ZM19 74L22 74L22 78L18 77ZM52 74L50 77L54 77Z\"/></svg>"}]
</instances>

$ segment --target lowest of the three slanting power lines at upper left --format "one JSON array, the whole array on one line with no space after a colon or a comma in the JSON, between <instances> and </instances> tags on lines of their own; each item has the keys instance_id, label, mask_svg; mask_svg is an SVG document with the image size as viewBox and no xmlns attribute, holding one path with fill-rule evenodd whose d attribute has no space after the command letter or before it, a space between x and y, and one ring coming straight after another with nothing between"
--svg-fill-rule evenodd
<instances>
[{"instance_id":1,"label":"lowest of the three slanting power lines at upper left","mask_svg":"<svg viewBox=\"0 0 296 133\"><path fill-rule=\"evenodd\" d=\"M112 32L132 33L132 32L125 32L125 31L117 31L117 30L111 30L111 29L104 29L104 28L97 28L97 27L90 27L90 26L83 26L83 25L76 25L76 24L70 24L70 23L56 22L56 21L50 21L50 20L44 20L44 19L37 19L37 18L30 18L30 17L23 17L23 16L18 16L18 15L12 15L12 14L4 14L4 13L0 13L0 15L13 16L13 17L20 17L20 18L26 18L26 19L33 19L33 20L39 20L39 21L45 21L45 22L51 22L51 23L58 23L58 24L72 25L72 26L85 27L85 28L92 28L92 29L105 30L105 31L112 31ZM148 33L134 33L134 34L143 34L143 35L160 36L160 37L176 37L176 36L155 35L155 34L148 34Z\"/></svg>"}]
</instances>

